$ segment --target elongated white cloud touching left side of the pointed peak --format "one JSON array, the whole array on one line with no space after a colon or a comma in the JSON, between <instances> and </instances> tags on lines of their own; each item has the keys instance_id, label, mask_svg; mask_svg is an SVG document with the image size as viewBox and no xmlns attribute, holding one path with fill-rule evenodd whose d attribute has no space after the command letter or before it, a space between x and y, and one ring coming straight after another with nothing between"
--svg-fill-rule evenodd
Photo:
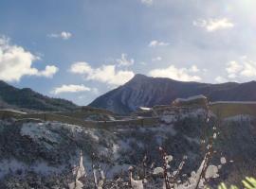
<instances>
[{"instance_id":1,"label":"elongated white cloud touching left side of the pointed peak","mask_svg":"<svg viewBox=\"0 0 256 189\"><path fill-rule=\"evenodd\" d=\"M73 63L70 71L83 75L86 80L96 80L111 85L122 85L135 76L132 71L117 70L116 65L101 65L99 68L92 68L87 62Z\"/></svg>"}]
</instances>

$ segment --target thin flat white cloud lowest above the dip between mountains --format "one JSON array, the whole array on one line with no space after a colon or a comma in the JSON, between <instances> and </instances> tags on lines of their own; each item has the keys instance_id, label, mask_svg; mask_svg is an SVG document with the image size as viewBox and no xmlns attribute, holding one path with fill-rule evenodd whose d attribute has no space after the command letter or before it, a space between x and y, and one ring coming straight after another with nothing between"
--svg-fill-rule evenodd
<instances>
[{"instance_id":1,"label":"thin flat white cloud lowest above the dip between mountains","mask_svg":"<svg viewBox=\"0 0 256 189\"><path fill-rule=\"evenodd\" d=\"M63 94L63 93L79 93L79 92L89 92L90 88L84 85L62 85L61 87L56 87L52 94Z\"/></svg>"}]
</instances>

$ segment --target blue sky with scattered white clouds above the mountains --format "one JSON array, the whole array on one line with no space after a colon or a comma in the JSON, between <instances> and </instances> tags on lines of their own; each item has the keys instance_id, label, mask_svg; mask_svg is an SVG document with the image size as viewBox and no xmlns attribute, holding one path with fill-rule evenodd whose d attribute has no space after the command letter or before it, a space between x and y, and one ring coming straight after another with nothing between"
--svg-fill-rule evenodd
<instances>
[{"instance_id":1,"label":"blue sky with scattered white clouds above the mountains","mask_svg":"<svg viewBox=\"0 0 256 189\"><path fill-rule=\"evenodd\" d=\"M256 79L255 0L1 0L0 79L87 105L134 77Z\"/></svg>"}]
</instances>

